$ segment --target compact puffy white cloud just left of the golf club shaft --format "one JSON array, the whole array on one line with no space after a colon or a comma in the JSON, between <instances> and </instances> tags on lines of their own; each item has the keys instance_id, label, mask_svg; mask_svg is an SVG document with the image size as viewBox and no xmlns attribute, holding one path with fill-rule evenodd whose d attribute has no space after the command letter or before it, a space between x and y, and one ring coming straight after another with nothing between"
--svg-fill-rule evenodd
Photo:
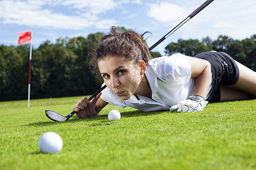
<instances>
[{"instance_id":1,"label":"compact puffy white cloud just left of the golf club shaft","mask_svg":"<svg viewBox=\"0 0 256 170\"><path fill-rule=\"evenodd\" d=\"M172 22L180 20L184 16L183 8L169 2L149 4L150 10L147 16L159 22Z\"/></svg>"}]
</instances>

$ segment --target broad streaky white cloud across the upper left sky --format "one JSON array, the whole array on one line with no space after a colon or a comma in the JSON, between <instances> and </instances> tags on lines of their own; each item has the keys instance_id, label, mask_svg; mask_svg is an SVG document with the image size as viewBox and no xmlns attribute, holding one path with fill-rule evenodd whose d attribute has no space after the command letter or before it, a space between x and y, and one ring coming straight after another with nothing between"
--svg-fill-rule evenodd
<instances>
[{"instance_id":1,"label":"broad streaky white cloud across the upper left sky","mask_svg":"<svg viewBox=\"0 0 256 170\"><path fill-rule=\"evenodd\" d=\"M122 3L140 3L140 0L44 0L44 1L0 1L0 22L3 24L29 25L45 28L84 29L109 28L117 23L114 19L102 19L100 14L113 10ZM49 10L47 7L72 9L76 15L67 15ZM75 11L77 10L77 11ZM78 14L78 15L77 15Z\"/></svg>"}]
</instances>

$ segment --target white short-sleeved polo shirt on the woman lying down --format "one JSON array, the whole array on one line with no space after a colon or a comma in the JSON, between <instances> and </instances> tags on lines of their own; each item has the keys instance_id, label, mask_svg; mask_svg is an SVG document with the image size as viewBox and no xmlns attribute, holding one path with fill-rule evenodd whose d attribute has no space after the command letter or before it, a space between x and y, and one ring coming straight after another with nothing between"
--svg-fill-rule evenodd
<instances>
[{"instance_id":1,"label":"white short-sleeved polo shirt on the woman lying down","mask_svg":"<svg viewBox=\"0 0 256 170\"><path fill-rule=\"evenodd\" d=\"M141 95L121 100L108 87L102 91L101 99L121 108L128 106L144 112L163 111L169 110L181 100L188 99L195 90L195 79L191 78L190 63L187 56L181 53L150 59L145 75L150 84L153 100ZM102 84L104 85L105 83ZM210 88L211 86L208 94Z\"/></svg>"}]
</instances>

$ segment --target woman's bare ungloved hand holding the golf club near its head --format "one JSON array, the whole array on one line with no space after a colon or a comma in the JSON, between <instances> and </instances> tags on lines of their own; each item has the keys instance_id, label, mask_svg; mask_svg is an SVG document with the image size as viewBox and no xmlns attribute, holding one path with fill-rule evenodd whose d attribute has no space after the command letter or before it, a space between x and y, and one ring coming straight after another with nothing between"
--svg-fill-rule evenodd
<instances>
[{"instance_id":1,"label":"woman's bare ungloved hand holding the golf club near its head","mask_svg":"<svg viewBox=\"0 0 256 170\"><path fill-rule=\"evenodd\" d=\"M78 118L88 118L97 114L96 112L96 103L100 98L101 93L95 96L91 101L88 100L88 97L84 96L82 99L77 101L75 107L73 107L73 111L76 112L76 116Z\"/></svg>"}]
</instances>

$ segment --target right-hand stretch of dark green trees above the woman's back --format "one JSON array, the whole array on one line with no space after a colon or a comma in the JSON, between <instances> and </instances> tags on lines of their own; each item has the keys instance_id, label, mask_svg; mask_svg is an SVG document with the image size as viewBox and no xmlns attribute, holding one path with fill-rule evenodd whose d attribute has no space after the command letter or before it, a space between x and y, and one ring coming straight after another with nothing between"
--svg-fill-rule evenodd
<instances>
[{"instance_id":1,"label":"right-hand stretch of dark green trees above the woman's back","mask_svg":"<svg viewBox=\"0 0 256 170\"><path fill-rule=\"evenodd\" d=\"M218 36L217 40L211 40L210 37L201 41L179 39L176 43L168 44L164 52L167 55L182 53L187 56L195 56L211 50L226 52L236 61L243 63L251 70L256 70L256 35L241 41L223 35Z\"/></svg>"}]
</instances>

